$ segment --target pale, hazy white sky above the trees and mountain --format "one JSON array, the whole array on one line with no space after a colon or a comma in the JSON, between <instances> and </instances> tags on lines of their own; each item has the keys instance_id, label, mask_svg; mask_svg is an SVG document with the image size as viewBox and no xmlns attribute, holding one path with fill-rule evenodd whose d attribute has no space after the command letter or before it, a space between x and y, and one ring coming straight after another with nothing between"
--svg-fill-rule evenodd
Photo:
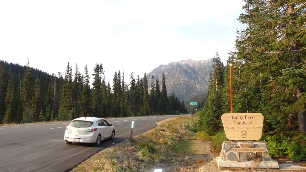
<instances>
[{"instance_id":1,"label":"pale, hazy white sky above the trees and mountain","mask_svg":"<svg viewBox=\"0 0 306 172\"><path fill-rule=\"evenodd\" d=\"M159 65L205 60L233 51L242 0L3 0L0 59L49 74L76 64L93 74L102 63L106 82L115 71L142 78ZM92 77L91 77L92 78ZM91 81L92 82L92 81ZM92 85L92 84L91 84Z\"/></svg>"}]
</instances>

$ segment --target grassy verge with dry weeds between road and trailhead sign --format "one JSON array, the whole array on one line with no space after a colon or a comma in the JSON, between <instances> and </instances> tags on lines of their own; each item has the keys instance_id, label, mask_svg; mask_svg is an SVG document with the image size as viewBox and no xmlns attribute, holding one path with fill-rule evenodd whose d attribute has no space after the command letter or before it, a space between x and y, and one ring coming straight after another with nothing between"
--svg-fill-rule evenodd
<instances>
[{"instance_id":1,"label":"grassy verge with dry weeds between road and trailhead sign","mask_svg":"<svg viewBox=\"0 0 306 172\"><path fill-rule=\"evenodd\" d=\"M213 162L210 142L200 140L196 132L197 122L190 116L171 118L133 137L132 143L127 139L104 149L71 172L151 172L156 164L163 164L163 171L195 171Z\"/></svg>"}]
</instances>

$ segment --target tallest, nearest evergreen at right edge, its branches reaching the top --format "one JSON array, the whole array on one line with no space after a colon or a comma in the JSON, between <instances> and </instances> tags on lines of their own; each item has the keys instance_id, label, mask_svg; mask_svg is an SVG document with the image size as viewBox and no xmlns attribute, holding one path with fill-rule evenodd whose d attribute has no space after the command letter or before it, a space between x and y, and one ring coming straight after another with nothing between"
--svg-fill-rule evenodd
<instances>
[{"instance_id":1,"label":"tallest, nearest evergreen at right edge, its branches reaching the top","mask_svg":"<svg viewBox=\"0 0 306 172\"><path fill-rule=\"evenodd\" d=\"M264 128L271 134L296 127L306 132L305 3L247 1L245 7L250 4L251 11L239 18L245 23L247 16L249 26L236 42L237 57L249 76L260 78L256 109L265 117Z\"/></svg>"}]
</instances>

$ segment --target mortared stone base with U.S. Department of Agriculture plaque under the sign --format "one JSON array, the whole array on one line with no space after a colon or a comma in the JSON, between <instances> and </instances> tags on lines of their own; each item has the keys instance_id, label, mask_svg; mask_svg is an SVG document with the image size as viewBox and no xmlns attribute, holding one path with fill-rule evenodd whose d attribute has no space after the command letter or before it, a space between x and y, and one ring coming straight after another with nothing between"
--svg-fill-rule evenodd
<instances>
[{"instance_id":1,"label":"mortared stone base with U.S. Department of Agriculture plaque under the sign","mask_svg":"<svg viewBox=\"0 0 306 172\"><path fill-rule=\"evenodd\" d=\"M235 152L233 148L242 151ZM248 148L248 149L247 149ZM243 150L259 150L255 148L265 148L265 152L245 152ZM219 157L217 157L218 167L226 168L279 168L269 153L267 145L263 141L224 141Z\"/></svg>"}]
</instances>

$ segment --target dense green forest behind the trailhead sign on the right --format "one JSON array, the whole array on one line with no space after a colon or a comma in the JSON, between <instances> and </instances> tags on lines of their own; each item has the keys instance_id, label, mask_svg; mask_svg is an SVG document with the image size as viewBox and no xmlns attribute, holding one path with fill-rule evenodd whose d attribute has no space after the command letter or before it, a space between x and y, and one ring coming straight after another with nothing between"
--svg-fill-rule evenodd
<instances>
[{"instance_id":1,"label":"dense green forest behind the trailhead sign on the right","mask_svg":"<svg viewBox=\"0 0 306 172\"><path fill-rule=\"evenodd\" d=\"M264 116L261 140L272 156L306 160L306 2L244 0L236 51L226 66L214 57L210 89L199 111L201 131L222 133L221 116L230 113L230 63L233 113Z\"/></svg>"}]
</instances>

